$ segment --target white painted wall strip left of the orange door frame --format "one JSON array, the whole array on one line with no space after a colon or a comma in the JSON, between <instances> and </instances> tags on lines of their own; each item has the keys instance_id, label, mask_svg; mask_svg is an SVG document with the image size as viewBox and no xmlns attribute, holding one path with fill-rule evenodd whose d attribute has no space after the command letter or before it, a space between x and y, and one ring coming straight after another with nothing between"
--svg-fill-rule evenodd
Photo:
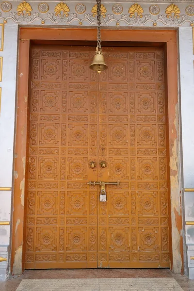
<instances>
[{"instance_id":1,"label":"white painted wall strip left of the orange door frame","mask_svg":"<svg viewBox=\"0 0 194 291\"><path fill-rule=\"evenodd\" d=\"M5 25L0 110L0 187L12 187L16 98L17 25ZM0 221L11 220L11 191L0 191ZM7 258L10 226L0 226L0 257ZM9 258L8 258L9 259ZM8 260L0 263L5 279Z\"/></svg>"}]
</instances>

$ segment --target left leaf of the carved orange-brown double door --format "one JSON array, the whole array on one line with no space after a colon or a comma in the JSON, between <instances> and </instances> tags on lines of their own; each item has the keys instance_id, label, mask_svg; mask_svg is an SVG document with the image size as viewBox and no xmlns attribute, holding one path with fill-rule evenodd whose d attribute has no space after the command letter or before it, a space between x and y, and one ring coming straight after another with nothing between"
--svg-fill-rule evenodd
<instances>
[{"instance_id":1,"label":"left leaf of the carved orange-brown double door","mask_svg":"<svg viewBox=\"0 0 194 291\"><path fill-rule=\"evenodd\" d=\"M32 48L25 268L97 267L95 48Z\"/></svg>"}]
</instances>

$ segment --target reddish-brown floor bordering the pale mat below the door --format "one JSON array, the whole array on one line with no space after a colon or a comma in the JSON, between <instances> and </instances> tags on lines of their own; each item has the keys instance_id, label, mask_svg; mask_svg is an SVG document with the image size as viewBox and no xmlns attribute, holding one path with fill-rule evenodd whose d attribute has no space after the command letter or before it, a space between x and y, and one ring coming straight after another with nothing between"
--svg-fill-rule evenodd
<instances>
[{"instance_id":1,"label":"reddish-brown floor bordering the pale mat below the door","mask_svg":"<svg viewBox=\"0 0 194 291\"><path fill-rule=\"evenodd\" d=\"M194 280L172 274L169 269L81 269L81 270L26 270L21 276L12 276L0 282L0 291L16 291L22 279L63 278L160 278L174 277L184 291L194 291ZM115 289L116 291L116 289Z\"/></svg>"}]
</instances>

